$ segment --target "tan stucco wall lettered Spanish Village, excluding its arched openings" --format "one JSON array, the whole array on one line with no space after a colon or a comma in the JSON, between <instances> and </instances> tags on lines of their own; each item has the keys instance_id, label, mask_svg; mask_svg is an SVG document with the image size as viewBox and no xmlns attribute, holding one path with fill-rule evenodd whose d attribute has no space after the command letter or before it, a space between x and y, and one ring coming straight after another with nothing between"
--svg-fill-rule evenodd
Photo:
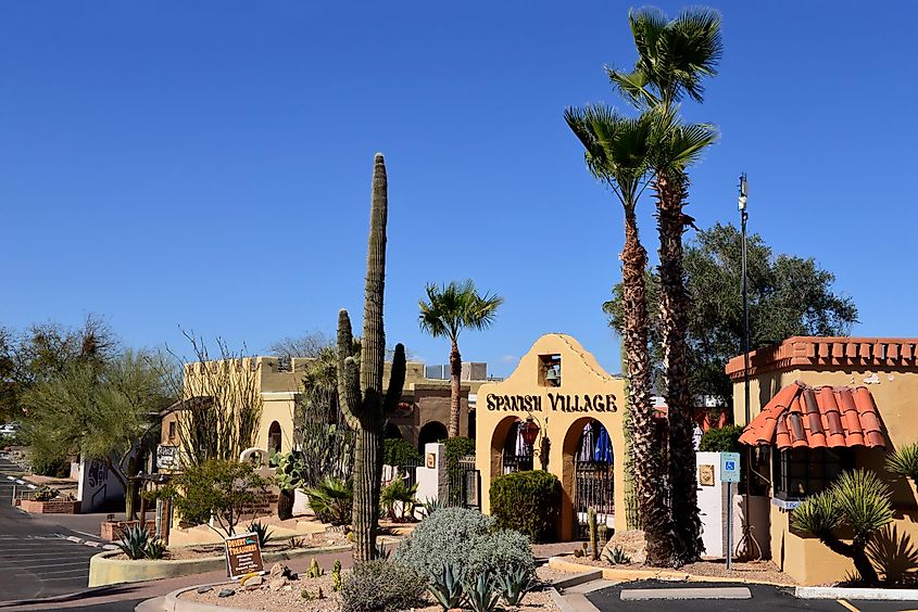
<instances>
[{"instance_id":1,"label":"tan stucco wall lettered Spanish Village, excluding its arched openings","mask_svg":"<svg viewBox=\"0 0 918 612\"><path fill-rule=\"evenodd\" d=\"M561 356L561 386L551 387L540 384L540 355ZM531 411L525 408L506 409L498 406L498 397L529 396ZM577 411L565 411L552 397L577 397ZM536 398L540 398L538 401ZM586 408L589 398L592 405L596 399L603 410ZM502 400L500 400L503 404ZM606 409L605 405L609 404ZM538 409L536 409L538 406ZM514 424L531 415L546 432L551 441L549 471L555 474L564 489L562 518L558 536L570 539L574 534L574 454L580 441L583 426L590 419L596 419L608 431L612 439L614 462L615 528L625 530L625 380L606 373L576 340L569 335L546 334L540 337L520 360L511 377L501 383L483 384L478 390L476 419L476 467L481 472L481 510L490 511L491 481L501 475L501 455L506 435ZM541 439L541 438L540 438ZM536 442L540 447L540 441ZM539 458L535 467L540 467Z\"/></svg>"}]
</instances>

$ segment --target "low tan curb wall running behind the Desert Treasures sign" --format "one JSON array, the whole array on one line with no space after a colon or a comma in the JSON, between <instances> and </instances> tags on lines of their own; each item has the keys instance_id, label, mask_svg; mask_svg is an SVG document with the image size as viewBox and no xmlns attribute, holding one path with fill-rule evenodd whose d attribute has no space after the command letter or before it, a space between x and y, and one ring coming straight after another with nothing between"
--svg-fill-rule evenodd
<instances>
[{"instance_id":1,"label":"low tan curb wall running behind the Desert Treasures sign","mask_svg":"<svg viewBox=\"0 0 918 612\"><path fill-rule=\"evenodd\" d=\"M265 563L288 561L310 554L326 552L343 552L351 546L326 546L319 548L294 548L279 552L265 552L262 560ZM93 554L89 560L89 586L115 585L123 583L142 583L162 578L175 578L192 574L204 574L226 569L226 559L219 557L204 557L202 559L176 559L149 561L146 559L109 559L118 554L121 550L106 550Z\"/></svg>"}]
</instances>

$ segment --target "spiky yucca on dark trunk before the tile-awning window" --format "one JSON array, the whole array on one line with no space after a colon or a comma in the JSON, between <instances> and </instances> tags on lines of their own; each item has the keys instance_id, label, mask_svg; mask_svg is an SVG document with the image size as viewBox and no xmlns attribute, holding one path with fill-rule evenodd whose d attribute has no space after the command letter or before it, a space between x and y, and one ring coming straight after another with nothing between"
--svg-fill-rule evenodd
<instances>
[{"instance_id":1,"label":"spiky yucca on dark trunk before the tile-awning window","mask_svg":"<svg viewBox=\"0 0 918 612\"><path fill-rule=\"evenodd\" d=\"M844 472L828 489L806 498L791 514L791 525L819 538L832 552L850 558L867 585L880 582L867 556L867 545L893 518L890 489L867 470ZM835 532L854 533L851 544Z\"/></svg>"}]
</instances>

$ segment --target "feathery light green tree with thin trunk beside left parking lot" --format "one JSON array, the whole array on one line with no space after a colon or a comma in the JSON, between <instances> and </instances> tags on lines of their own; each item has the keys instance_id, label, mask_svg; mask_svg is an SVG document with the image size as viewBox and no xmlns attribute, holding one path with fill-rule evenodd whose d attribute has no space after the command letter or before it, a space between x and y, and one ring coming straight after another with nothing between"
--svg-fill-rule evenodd
<instances>
[{"instance_id":1,"label":"feathery light green tree with thin trunk beside left parking lot","mask_svg":"<svg viewBox=\"0 0 918 612\"><path fill-rule=\"evenodd\" d=\"M143 353L125 350L105 364L72 364L24 395L26 439L108 464L124 485L133 514L139 455L151 444L158 412L172 398Z\"/></svg>"}]
</instances>

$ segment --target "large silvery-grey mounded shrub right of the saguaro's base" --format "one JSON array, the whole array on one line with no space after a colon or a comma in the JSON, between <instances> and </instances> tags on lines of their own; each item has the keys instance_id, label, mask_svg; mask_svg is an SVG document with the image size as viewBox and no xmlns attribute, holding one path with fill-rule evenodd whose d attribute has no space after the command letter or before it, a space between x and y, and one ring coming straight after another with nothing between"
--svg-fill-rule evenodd
<instances>
[{"instance_id":1,"label":"large silvery-grey mounded shrub right of the saguaro's base","mask_svg":"<svg viewBox=\"0 0 918 612\"><path fill-rule=\"evenodd\" d=\"M477 510L444 508L424 519L395 551L395 560L436 581L450 566L462 575L524 568L536 561L526 536L495 531L494 520Z\"/></svg>"}]
</instances>

